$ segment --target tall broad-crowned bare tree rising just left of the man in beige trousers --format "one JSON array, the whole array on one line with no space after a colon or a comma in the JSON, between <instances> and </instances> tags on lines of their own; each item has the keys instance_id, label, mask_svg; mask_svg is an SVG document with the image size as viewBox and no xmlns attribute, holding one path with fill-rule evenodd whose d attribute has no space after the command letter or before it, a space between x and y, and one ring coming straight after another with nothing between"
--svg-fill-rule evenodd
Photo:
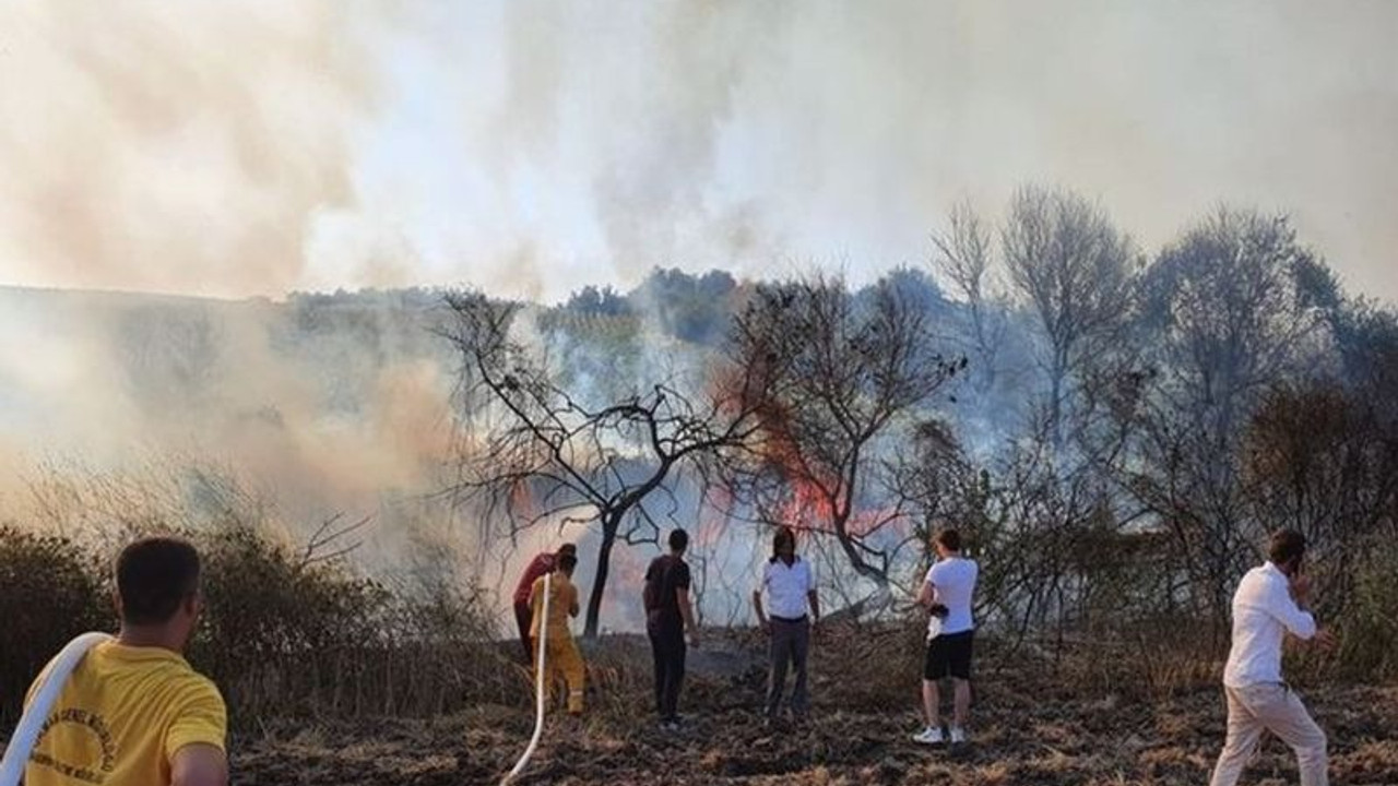
<instances>
[{"instance_id":1,"label":"tall broad-crowned bare tree rising just left of the man in beige trousers","mask_svg":"<svg viewBox=\"0 0 1398 786\"><path fill-rule=\"evenodd\" d=\"M1328 338L1300 274L1314 257L1283 217L1220 208L1167 246L1144 292L1155 371L1135 418L1130 488L1176 537L1198 611L1226 628L1227 589L1265 529L1240 490L1241 438L1262 393L1314 368Z\"/></svg>"}]
</instances>

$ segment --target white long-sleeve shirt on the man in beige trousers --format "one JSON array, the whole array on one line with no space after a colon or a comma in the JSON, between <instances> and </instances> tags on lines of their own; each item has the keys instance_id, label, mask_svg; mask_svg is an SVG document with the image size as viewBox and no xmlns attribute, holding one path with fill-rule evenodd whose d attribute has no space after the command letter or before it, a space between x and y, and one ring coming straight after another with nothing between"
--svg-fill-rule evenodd
<instances>
[{"instance_id":1,"label":"white long-sleeve shirt on the man in beige trousers","mask_svg":"<svg viewBox=\"0 0 1398 786\"><path fill-rule=\"evenodd\" d=\"M1243 576L1233 593L1233 648L1223 669L1223 684L1246 688L1282 681L1282 639L1286 632L1309 639L1316 618L1292 599L1286 575L1267 562Z\"/></svg>"}]
</instances>

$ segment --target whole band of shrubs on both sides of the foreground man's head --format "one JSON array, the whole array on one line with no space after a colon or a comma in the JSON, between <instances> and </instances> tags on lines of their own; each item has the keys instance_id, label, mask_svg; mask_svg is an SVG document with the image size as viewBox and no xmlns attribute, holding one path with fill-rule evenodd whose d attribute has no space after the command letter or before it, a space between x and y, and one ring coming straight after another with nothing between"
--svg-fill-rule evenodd
<instances>
[{"instance_id":1,"label":"whole band of shrubs on both sides of the foreground man's head","mask_svg":"<svg viewBox=\"0 0 1398 786\"><path fill-rule=\"evenodd\" d=\"M424 716L527 699L528 676L506 656L513 649L493 641L489 604L474 583L390 592L343 558L317 559L238 520L182 534L204 564L204 614L186 655L218 684L235 726L275 716ZM69 639L116 627L109 559L96 551L0 527L7 723Z\"/></svg>"}]
</instances>

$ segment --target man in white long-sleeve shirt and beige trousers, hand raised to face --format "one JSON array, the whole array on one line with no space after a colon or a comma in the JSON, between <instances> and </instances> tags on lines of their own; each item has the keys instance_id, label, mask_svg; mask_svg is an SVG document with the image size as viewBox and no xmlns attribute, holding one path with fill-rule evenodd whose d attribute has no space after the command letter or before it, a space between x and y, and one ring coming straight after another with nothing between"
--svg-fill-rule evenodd
<instances>
[{"instance_id":1,"label":"man in white long-sleeve shirt and beige trousers, hand raised to face","mask_svg":"<svg viewBox=\"0 0 1398 786\"><path fill-rule=\"evenodd\" d=\"M1268 561L1243 576L1233 594L1233 648L1223 669L1227 695L1227 741L1211 786L1233 786L1268 730L1296 751L1302 786L1325 786L1325 733L1306 705L1282 681L1282 639L1290 632L1328 646L1306 610L1310 578L1302 571L1306 538L1295 530L1275 533Z\"/></svg>"}]
</instances>

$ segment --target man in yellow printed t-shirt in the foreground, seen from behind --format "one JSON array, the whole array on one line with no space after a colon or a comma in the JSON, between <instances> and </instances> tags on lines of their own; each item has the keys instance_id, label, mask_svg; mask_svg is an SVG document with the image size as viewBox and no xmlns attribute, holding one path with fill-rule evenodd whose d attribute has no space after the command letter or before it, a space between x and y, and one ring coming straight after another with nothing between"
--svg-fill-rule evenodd
<instances>
[{"instance_id":1,"label":"man in yellow printed t-shirt in the foreground, seen from behind","mask_svg":"<svg viewBox=\"0 0 1398 786\"><path fill-rule=\"evenodd\" d=\"M199 552L182 540L144 538L122 551L122 629L69 677L27 786L226 786L224 698L180 656L203 606L199 573Z\"/></svg>"}]
</instances>

